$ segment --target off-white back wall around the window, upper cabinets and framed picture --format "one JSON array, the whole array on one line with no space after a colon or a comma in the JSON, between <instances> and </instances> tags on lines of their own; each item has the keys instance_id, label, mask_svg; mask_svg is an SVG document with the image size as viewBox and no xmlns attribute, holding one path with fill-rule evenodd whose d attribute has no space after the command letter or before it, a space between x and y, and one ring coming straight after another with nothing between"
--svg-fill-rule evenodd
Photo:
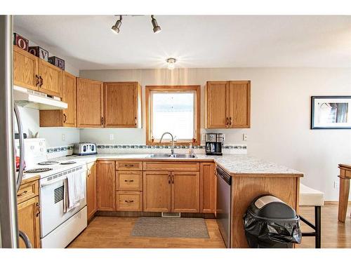
<instances>
[{"instance_id":1,"label":"off-white back wall around the window, upper cabinets and framed picture","mask_svg":"<svg viewBox=\"0 0 351 263\"><path fill-rule=\"evenodd\" d=\"M351 130L310 130L310 96L351 95L351 69L223 68L82 70L80 76L100 81L139 81L146 85L201 85L201 128L204 128L204 83L208 80L251 80L251 128L211 130L225 133L226 143L243 143L250 155L305 173L302 182L337 201L338 163L351 163ZM143 129L83 129L81 141L145 143ZM206 132L206 130L202 130ZM114 140L109 140L110 133Z\"/></svg>"}]
</instances>

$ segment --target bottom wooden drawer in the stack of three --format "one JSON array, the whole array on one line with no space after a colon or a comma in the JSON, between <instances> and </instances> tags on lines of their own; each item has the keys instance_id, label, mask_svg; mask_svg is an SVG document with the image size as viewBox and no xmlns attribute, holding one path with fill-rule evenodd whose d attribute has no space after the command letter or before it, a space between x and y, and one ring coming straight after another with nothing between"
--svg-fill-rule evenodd
<instances>
[{"instance_id":1,"label":"bottom wooden drawer in the stack of three","mask_svg":"<svg viewBox=\"0 0 351 263\"><path fill-rule=\"evenodd\" d=\"M117 211L142 211L143 192L142 191L117 191L116 192Z\"/></svg>"}]
</instances>

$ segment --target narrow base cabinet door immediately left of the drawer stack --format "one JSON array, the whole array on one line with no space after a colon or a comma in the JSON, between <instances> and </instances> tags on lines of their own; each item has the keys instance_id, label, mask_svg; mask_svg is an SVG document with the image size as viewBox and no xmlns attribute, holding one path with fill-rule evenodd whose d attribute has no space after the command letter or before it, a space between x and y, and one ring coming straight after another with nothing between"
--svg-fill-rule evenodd
<instances>
[{"instance_id":1,"label":"narrow base cabinet door immediately left of the drawer stack","mask_svg":"<svg viewBox=\"0 0 351 263\"><path fill-rule=\"evenodd\" d=\"M98 161L96 182L98 188L98 210L116 210L116 187L114 161Z\"/></svg>"}]
</instances>

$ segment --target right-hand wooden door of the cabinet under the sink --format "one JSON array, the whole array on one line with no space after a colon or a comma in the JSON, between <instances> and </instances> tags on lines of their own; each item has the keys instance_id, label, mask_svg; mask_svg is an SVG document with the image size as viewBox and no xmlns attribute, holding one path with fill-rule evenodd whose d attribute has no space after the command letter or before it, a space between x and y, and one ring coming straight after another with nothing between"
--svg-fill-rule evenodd
<instances>
[{"instance_id":1,"label":"right-hand wooden door of the cabinet under the sink","mask_svg":"<svg viewBox=\"0 0 351 263\"><path fill-rule=\"evenodd\" d=\"M199 213L199 172L172 172L172 212Z\"/></svg>"}]
</instances>

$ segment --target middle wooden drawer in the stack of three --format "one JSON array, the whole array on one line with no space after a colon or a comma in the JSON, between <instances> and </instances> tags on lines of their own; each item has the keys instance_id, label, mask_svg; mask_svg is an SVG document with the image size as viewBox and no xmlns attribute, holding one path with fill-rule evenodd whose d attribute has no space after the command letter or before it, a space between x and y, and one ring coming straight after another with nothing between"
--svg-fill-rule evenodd
<instances>
[{"instance_id":1,"label":"middle wooden drawer in the stack of three","mask_svg":"<svg viewBox=\"0 0 351 263\"><path fill-rule=\"evenodd\" d=\"M117 170L117 191L143 191L143 172Z\"/></svg>"}]
</instances>

